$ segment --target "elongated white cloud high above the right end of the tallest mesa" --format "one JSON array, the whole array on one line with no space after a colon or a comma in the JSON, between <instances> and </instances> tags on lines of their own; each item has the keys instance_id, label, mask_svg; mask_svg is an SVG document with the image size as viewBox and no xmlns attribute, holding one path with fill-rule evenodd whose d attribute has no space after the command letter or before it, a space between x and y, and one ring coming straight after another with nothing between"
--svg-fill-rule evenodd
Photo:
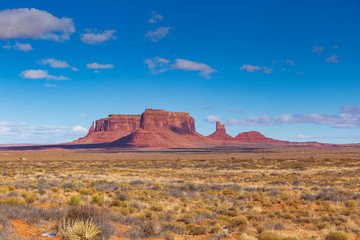
<instances>
[{"instance_id":1,"label":"elongated white cloud high above the right end of the tallest mesa","mask_svg":"<svg viewBox=\"0 0 360 240\"><path fill-rule=\"evenodd\" d=\"M172 68L185 71L200 71L199 75L207 79L210 78L210 74L217 72L205 63L198 63L180 58L175 59L175 63L172 65Z\"/></svg>"}]
</instances>

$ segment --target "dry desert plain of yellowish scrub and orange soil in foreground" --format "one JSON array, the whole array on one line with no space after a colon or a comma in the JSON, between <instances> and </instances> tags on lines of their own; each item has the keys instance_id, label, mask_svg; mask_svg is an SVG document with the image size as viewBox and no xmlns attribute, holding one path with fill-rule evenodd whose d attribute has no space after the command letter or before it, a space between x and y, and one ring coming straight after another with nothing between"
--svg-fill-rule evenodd
<instances>
[{"instance_id":1,"label":"dry desert plain of yellowish scrub and orange soil in foreground","mask_svg":"<svg viewBox=\"0 0 360 240\"><path fill-rule=\"evenodd\" d=\"M9 152L0 239L359 238L360 152L274 152Z\"/></svg>"}]
</instances>

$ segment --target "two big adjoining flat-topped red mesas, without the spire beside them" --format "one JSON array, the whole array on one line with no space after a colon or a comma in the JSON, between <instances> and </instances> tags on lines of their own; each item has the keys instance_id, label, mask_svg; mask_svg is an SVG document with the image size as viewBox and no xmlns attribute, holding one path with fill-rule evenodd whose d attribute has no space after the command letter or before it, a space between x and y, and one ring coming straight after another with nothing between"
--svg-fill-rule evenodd
<instances>
[{"instance_id":1,"label":"two big adjoining flat-topped red mesas, without the spire beside them","mask_svg":"<svg viewBox=\"0 0 360 240\"><path fill-rule=\"evenodd\" d=\"M97 120L89 133L72 144L107 143L114 147L196 147L211 143L195 132L184 112L146 109L140 115L113 114Z\"/></svg>"}]
</instances>

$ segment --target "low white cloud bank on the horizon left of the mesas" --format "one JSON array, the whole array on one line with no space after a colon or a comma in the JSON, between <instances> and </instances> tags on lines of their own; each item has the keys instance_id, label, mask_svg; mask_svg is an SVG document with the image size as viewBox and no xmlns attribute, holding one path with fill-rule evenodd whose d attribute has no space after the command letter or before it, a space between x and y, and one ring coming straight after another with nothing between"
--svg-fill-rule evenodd
<instances>
[{"instance_id":1,"label":"low white cloud bank on the horizon left of the mesas","mask_svg":"<svg viewBox=\"0 0 360 240\"><path fill-rule=\"evenodd\" d=\"M83 137L82 126L28 126L26 123L0 122L0 143L60 143Z\"/></svg>"}]
</instances>

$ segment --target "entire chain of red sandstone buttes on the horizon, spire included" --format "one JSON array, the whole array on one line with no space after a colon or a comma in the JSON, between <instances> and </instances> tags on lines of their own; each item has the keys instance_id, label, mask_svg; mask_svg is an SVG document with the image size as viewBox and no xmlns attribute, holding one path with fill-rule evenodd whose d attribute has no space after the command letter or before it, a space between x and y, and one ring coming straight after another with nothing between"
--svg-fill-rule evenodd
<instances>
[{"instance_id":1,"label":"entire chain of red sandstone buttes on the horizon, spire included","mask_svg":"<svg viewBox=\"0 0 360 240\"><path fill-rule=\"evenodd\" d=\"M220 122L216 122L214 133L204 137L195 131L195 120L189 113L145 109L141 115L111 114L96 120L85 137L68 144L98 143L120 148L196 148L229 143L290 142L267 138L256 131L242 132L232 137L226 133L225 124Z\"/></svg>"}]
</instances>

